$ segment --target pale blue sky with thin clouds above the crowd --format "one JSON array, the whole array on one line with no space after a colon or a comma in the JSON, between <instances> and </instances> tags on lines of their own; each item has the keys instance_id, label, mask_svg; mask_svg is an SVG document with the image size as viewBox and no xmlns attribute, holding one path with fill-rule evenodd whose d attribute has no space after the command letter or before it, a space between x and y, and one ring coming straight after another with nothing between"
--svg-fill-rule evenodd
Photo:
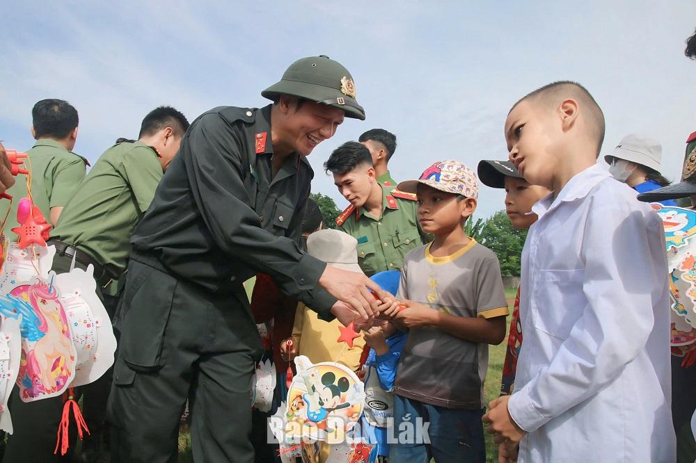
<instances>
[{"instance_id":1,"label":"pale blue sky with thin clouds above the crowd","mask_svg":"<svg viewBox=\"0 0 696 463\"><path fill-rule=\"evenodd\" d=\"M582 4L582 6L579 6ZM55 97L80 115L75 151L96 161L143 116L170 104L193 120L259 107L296 58L326 54L353 74L367 120L346 120L309 160L313 191L342 207L322 163L374 127L393 131L397 180L434 161L505 159L503 122L530 90L583 83L606 115L603 153L627 133L663 144L679 179L696 130L696 62L683 56L693 1L10 2L0 46L0 138L27 149L31 107ZM482 186L477 216L503 208Z\"/></svg>"}]
</instances>

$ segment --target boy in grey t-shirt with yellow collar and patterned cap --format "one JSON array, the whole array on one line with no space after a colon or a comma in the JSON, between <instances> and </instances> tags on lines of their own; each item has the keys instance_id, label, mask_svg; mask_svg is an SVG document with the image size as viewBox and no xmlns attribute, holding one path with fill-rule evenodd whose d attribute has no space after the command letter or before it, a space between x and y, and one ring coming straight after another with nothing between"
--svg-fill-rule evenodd
<instances>
[{"instance_id":1,"label":"boy in grey t-shirt with yellow collar and patterned cap","mask_svg":"<svg viewBox=\"0 0 696 463\"><path fill-rule=\"evenodd\" d=\"M418 194L418 220L435 238L406 254L400 301L383 312L409 330L394 389L394 428L420 418L429 423L430 442L419 444L416 434L391 444L390 460L484 462L488 344L505 339L509 309L496 254L464 234L476 209L476 175L457 161L440 161L398 188Z\"/></svg>"}]
</instances>

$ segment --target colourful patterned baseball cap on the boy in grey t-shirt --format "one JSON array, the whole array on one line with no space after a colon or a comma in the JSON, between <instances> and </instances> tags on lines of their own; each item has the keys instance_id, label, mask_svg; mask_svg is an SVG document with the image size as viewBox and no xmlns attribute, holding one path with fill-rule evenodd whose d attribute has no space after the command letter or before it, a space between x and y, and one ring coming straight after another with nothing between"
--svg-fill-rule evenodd
<instances>
[{"instance_id":1,"label":"colourful patterned baseball cap on the boy in grey t-shirt","mask_svg":"<svg viewBox=\"0 0 696 463\"><path fill-rule=\"evenodd\" d=\"M466 197L478 197L478 179L473 170L459 161L437 161L420 174L418 180L402 181L398 189L416 193L418 184Z\"/></svg>"}]
</instances>

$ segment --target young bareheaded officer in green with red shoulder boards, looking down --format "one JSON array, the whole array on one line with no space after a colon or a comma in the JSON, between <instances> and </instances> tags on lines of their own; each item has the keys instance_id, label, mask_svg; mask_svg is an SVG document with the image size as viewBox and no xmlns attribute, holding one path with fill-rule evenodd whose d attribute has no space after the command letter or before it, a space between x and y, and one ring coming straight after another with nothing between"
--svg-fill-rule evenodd
<instances>
[{"instance_id":1,"label":"young bareheaded officer in green with red shoulder boards, looking down","mask_svg":"<svg viewBox=\"0 0 696 463\"><path fill-rule=\"evenodd\" d=\"M358 240L358 263L366 275L400 270L406 253L429 241L418 225L416 195L380 184L361 143L336 148L324 168L350 202L336 224Z\"/></svg>"}]
</instances>

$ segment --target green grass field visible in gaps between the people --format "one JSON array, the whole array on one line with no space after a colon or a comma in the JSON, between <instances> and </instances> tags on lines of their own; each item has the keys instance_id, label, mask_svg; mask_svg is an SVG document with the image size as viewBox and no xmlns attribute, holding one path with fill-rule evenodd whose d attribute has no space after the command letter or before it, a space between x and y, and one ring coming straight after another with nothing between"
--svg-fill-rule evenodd
<instances>
[{"instance_id":1,"label":"green grass field visible in gaps between the people","mask_svg":"<svg viewBox=\"0 0 696 463\"><path fill-rule=\"evenodd\" d=\"M507 298L509 302L510 313L512 314L512 303L514 302L515 291L512 291L512 293L506 292L505 298ZM510 317L507 317L507 332L509 332L509 325ZM505 337L505 341L500 343L499 346L491 346L489 348L488 374L484 382L486 405L488 405L491 400L500 396L500 377L503 376L505 346L507 346L507 336ZM179 433L179 463L191 462L193 462L193 457L191 456L191 436L189 435L188 426L182 425L182 429ZM498 462L498 446L493 444L493 437L490 434L486 434L486 462Z\"/></svg>"}]
</instances>

